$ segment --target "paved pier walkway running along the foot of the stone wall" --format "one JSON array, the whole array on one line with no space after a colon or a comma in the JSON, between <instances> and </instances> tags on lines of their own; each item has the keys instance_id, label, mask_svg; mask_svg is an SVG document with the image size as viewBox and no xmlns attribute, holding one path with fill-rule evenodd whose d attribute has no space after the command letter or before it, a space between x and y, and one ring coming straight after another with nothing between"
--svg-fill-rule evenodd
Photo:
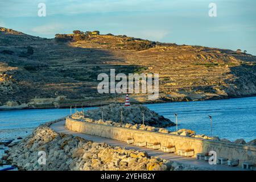
<instances>
[{"instance_id":1,"label":"paved pier walkway running along the foot of the stone wall","mask_svg":"<svg viewBox=\"0 0 256 182\"><path fill-rule=\"evenodd\" d=\"M221 164L210 165L208 162L205 162L204 160L196 160L194 158L185 158L183 156L176 155L173 153L167 153L167 152L163 152L160 150L153 150L153 149L150 149L147 147L134 146L133 144L127 144L126 142L122 142L119 140L98 137L98 136L94 136L94 135L88 135L88 134L68 130L67 128L65 128L65 121L53 123L50 127L53 130L57 131L58 133L72 134L76 137L81 137L86 140L92 140L94 142L99 142L99 143L105 142L105 143L109 144L110 146L124 147L127 150L134 149L134 150L138 150L138 151L145 151L145 152L147 152L147 154L149 156L155 156L156 158L172 160L174 162L179 162L181 164L186 164L186 165L190 165L190 166L194 166L194 167L207 168L207 169L213 170L213 171L241 171L241 170L243 170L240 167L229 167L229 166L221 165Z\"/></svg>"}]
</instances>

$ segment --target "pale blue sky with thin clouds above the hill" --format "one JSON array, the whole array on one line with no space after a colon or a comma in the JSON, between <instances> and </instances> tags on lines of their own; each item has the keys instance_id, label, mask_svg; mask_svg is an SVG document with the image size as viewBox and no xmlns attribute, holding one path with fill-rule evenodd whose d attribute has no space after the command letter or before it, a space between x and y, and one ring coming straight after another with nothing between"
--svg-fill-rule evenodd
<instances>
[{"instance_id":1,"label":"pale blue sky with thin clouds above the hill","mask_svg":"<svg viewBox=\"0 0 256 182\"><path fill-rule=\"evenodd\" d=\"M46 16L38 16L39 3ZM216 17L208 14L210 3ZM99 30L256 55L255 0L0 0L0 27L44 38Z\"/></svg>"}]
</instances>

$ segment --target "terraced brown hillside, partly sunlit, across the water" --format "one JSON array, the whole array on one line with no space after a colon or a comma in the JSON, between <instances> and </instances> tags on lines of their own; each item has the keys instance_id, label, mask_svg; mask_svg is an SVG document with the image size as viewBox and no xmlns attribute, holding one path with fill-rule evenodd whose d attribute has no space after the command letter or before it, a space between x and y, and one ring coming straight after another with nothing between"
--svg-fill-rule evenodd
<instances>
[{"instance_id":1,"label":"terraced brown hillside, partly sunlit, across the water","mask_svg":"<svg viewBox=\"0 0 256 182\"><path fill-rule=\"evenodd\" d=\"M97 93L97 75L110 68L126 75L159 73L156 102L256 94L256 56L124 35L84 35L45 39L0 27L0 109L108 104L114 95ZM131 102L151 101L147 94L133 94Z\"/></svg>"}]
</instances>

